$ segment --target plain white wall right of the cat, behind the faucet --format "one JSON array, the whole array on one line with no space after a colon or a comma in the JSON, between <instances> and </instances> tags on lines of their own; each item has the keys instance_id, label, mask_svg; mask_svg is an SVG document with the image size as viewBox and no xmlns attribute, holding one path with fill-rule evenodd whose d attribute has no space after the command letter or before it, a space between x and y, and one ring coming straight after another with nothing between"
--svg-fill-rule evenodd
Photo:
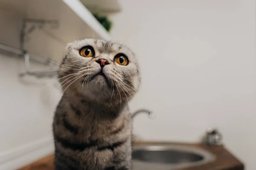
<instances>
[{"instance_id":1,"label":"plain white wall right of the cat, behind the faucet","mask_svg":"<svg viewBox=\"0 0 256 170\"><path fill-rule=\"evenodd\" d=\"M112 36L139 57L144 140L198 142L217 127L224 144L254 170L256 155L255 0L120 0ZM143 122L143 123L142 123Z\"/></svg>"}]
</instances>

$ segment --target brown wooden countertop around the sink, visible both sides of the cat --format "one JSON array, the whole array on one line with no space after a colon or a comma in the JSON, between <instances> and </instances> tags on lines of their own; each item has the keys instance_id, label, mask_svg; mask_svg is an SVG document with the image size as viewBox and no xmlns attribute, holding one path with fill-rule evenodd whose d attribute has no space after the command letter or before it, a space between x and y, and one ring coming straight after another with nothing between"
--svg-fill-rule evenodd
<instances>
[{"instance_id":1,"label":"brown wooden countertop around the sink, visible both sides of the cat","mask_svg":"<svg viewBox=\"0 0 256 170\"><path fill-rule=\"evenodd\" d=\"M215 161L202 164L199 166L188 167L180 170L244 170L244 165L236 159L223 146L209 147L203 144L186 144L173 142L134 142L134 146L150 145L150 144L179 144L187 146L200 147L215 155ZM32 164L27 165L19 170L54 170L54 154L42 158Z\"/></svg>"}]
</instances>

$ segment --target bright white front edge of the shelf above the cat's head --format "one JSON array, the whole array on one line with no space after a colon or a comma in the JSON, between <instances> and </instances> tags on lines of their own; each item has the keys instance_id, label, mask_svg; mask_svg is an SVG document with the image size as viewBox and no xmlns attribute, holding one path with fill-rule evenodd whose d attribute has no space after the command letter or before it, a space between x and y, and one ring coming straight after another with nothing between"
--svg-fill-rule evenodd
<instances>
[{"instance_id":1,"label":"bright white front edge of the shelf above the cat's head","mask_svg":"<svg viewBox=\"0 0 256 170\"><path fill-rule=\"evenodd\" d=\"M93 14L79 0L62 0L102 39L111 40L108 31L96 20Z\"/></svg>"}]
</instances>

